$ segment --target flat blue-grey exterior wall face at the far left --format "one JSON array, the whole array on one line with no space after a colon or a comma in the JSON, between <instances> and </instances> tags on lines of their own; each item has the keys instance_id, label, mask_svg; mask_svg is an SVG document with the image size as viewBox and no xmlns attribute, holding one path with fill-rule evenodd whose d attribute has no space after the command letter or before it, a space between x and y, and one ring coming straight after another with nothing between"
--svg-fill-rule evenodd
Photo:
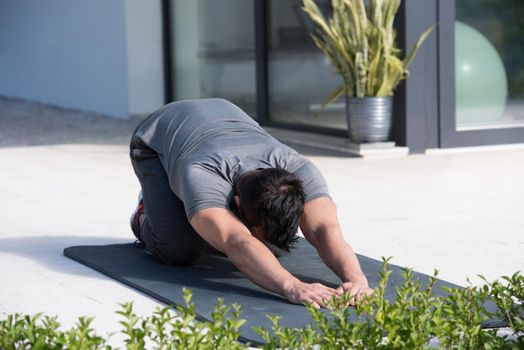
<instances>
[{"instance_id":1,"label":"flat blue-grey exterior wall face at the far left","mask_svg":"<svg viewBox=\"0 0 524 350\"><path fill-rule=\"evenodd\" d=\"M123 0L0 1L0 95L127 117Z\"/></svg>"}]
</instances>

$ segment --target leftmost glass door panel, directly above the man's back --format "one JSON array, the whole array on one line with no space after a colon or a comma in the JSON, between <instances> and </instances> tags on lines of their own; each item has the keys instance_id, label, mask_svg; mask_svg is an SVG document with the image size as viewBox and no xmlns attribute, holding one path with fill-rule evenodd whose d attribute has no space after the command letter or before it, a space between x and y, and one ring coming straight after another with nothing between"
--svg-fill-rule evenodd
<instances>
[{"instance_id":1,"label":"leftmost glass door panel, directly above the man's back","mask_svg":"<svg viewBox=\"0 0 524 350\"><path fill-rule=\"evenodd\" d=\"M175 99L222 97L256 117L254 0L172 0Z\"/></svg>"}]
</instances>

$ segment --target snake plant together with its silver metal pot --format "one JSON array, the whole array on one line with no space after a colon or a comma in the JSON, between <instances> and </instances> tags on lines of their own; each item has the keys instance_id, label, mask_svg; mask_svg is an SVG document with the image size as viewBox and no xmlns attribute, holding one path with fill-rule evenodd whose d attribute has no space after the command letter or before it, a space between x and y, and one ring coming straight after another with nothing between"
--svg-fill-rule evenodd
<instances>
[{"instance_id":1,"label":"snake plant together with its silver metal pot","mask_svg":"<svg viewBox=\"0 0 524 350\"><path fill-rule=\"evenodd\" d=\"M364 0L332 0L331 5L332 15L326 19L313 0L302 1L315 25L315 45L343 80L324 106L345 95L349 137L354 142L386 141L393 92L433 27L401 59L393 29L400 0L370 0L367 7Z\"/></svg>"}]
</instances>

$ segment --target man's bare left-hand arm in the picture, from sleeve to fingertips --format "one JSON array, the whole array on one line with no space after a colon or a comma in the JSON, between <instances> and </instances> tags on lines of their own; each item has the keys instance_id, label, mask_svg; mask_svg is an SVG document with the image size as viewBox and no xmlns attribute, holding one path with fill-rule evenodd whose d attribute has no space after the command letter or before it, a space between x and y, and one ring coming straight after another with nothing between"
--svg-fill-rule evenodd
<instances>
[{"instance_id":1,"label":"man's bare left-hand arm in the picture, from sleeve to fingertips","mask_svg":"<svg viewBox=\"0 0 524 350\"><path fill-rule=\"evenodd\" d=\"M202 209L192 217L191 225L215 249L226 254L253 283L292 303L307 302L320 307L324 305L323 300L340 294L319 283L304 283L289 273L229 210Z\"/></svg>"}]
</instances>

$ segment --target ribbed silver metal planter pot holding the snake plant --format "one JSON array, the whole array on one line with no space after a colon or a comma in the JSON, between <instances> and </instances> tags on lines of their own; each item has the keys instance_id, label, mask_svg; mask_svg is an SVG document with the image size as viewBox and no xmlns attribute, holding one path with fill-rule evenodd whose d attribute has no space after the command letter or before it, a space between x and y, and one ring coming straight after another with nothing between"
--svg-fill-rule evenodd
<instances>
[{"instance_id":1,"label":"ribbed silver metal planter pot holding the snake plant","mask_svg":"<svg viewBox=\"0 0 524 350\"><path fill-rule=\"evenodd\" d=\"M389 138L393 97L347 97L346 118L352 141L383 142Z\"/></svg>"}]
</instances>

